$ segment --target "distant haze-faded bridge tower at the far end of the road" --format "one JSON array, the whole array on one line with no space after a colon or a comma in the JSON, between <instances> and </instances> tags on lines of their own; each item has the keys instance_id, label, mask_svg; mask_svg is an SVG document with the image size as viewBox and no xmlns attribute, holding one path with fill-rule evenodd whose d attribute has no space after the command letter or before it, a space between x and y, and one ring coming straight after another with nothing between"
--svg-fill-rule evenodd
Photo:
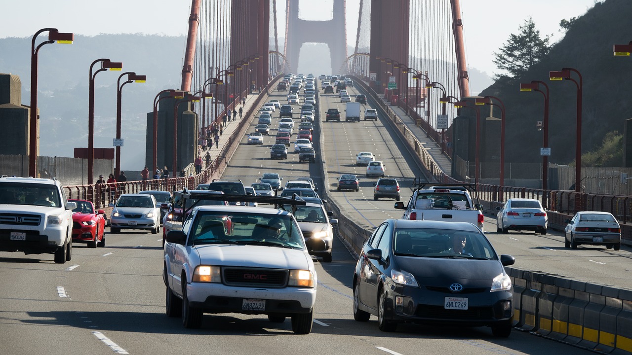
<instances>
[{"instance_id":1,"label":"distant haze-faded bridge tower at the far end of the road","mask_svg":"<svg viewBox=\"0 0 632 355\"><path fill-rule=\"evenodd\" d=\"M337 73L347 57L345 0L334 0L332 19L325 21L298 18L298 3L288 0L286 7L285 57L289 62L289 71L297 74L301 45L325 43L331 53L332 73Z\"/></svg>"}]
</instances>

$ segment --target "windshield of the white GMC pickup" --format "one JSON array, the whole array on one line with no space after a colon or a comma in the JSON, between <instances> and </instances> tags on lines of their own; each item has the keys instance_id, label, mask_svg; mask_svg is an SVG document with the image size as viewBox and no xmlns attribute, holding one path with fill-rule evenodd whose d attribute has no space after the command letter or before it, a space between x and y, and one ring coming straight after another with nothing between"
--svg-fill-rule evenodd
<instances>
[{"instance_id":1,"label":"windshield of the white GMC pickup","mask_svg":"<svg viewBox=\"0 0 632 355\"><path fill-rule=\"evenodd\" d=\"M303 235L290 214L199 211L188 245L255 244L305 250Z\"/></svg>"}]
</instances>

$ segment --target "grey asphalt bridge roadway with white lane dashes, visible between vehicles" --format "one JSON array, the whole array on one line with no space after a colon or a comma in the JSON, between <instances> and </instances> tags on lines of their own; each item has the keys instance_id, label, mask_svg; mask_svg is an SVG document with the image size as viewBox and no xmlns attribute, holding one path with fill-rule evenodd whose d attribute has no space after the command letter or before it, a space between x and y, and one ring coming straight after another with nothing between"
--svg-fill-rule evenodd
<instances>
[{"instance_id":1,"label":"grey asphalt bridge roadway with white lane dashes, visible between vehicles","mask_svg":"<svg viewBox=\"0 0 632 355\"><path fill-rule=\"evenodd\" d=\"M284 97L270 93L270 98ZM336 106L343 107L337 95L320 96L320 112ZM277 120L273 120L273 132ZM263 147L247 145L244 137L223 178L251 184L267 171L279 172L284 181L312 176L321 192L334 190L328 194L332 203L367 228L399 217L401 211L392 208L392 200L372 200L375 179L362 178L364 168L355 165L357 152L374 152L385 162L387 174L401 181L402 200L410 196L411 179L420 171L403 143L392 138L384 117L377 123L320 121L317 126L317 148L322 148L319 162L324 164L325 174L320 172L320 163L298 163L295 153L289 153L288 160L268 159L274 139L269 136ZM361 176L360 191L335 191L336 177L344 172ZM499 253L516 256L516 267L629 287L627 248L618 252L583 247L566 250L557 232L547 236L496 234L489 218L485 229ZM0 253L3 353L296 354L308 350L320 354L419 354L420 349L428 349L422 353L588 354L518 331L509 339L496 339L487 328L404 325L399 332L386 334L378 330L375 317L368 323L355 322L350 288L355 259L339 240L334 243L333 262L317 263L319 296L312 334L292 334L288 321L272 325L264 316L242 315L205 315L202 329L185 330L179 320L164 315L161 260L161 239L142 232L108 234L103 249L75 244L73 259L64 265L54 264L50 255Z\"/></svg>"}]
</instances>

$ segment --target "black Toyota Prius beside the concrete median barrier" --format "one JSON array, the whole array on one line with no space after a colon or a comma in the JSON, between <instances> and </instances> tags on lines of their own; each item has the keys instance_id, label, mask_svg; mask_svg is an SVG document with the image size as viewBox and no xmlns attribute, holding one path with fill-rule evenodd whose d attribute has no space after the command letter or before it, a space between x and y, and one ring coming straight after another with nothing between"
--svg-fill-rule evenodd
<instances>
[{"instance_id":1,"label":"black Toyota Prius beside the concrete median barrier","mask_svg":"<svg viewBox=\"0 0 632 355\"><path fill-rule=\"evenodd\" d=\"M353 316L398 323L492 328L511 334L513 290L485 234L466 222L388 219L362 249L353 275Z\"/></svg>"}]
</instances>

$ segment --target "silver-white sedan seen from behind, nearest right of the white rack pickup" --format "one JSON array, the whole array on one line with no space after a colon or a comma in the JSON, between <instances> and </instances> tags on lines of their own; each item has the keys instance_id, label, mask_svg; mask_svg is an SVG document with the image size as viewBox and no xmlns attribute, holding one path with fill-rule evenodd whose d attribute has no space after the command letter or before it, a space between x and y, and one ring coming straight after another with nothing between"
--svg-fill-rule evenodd
<instances>
[{"instance_id":1,"label":"silver-white sedan seen from behind, nearest right of the white rack pickup","mask_svg":"<svg viewBox=\"0 0 632 355\"><path fill-rule=\"evenodd\" d=\"M509 198L496 207L496 232L535 231L547 234L549 219L540 201L533 198Z\"/></svg>"}]
</instances>

